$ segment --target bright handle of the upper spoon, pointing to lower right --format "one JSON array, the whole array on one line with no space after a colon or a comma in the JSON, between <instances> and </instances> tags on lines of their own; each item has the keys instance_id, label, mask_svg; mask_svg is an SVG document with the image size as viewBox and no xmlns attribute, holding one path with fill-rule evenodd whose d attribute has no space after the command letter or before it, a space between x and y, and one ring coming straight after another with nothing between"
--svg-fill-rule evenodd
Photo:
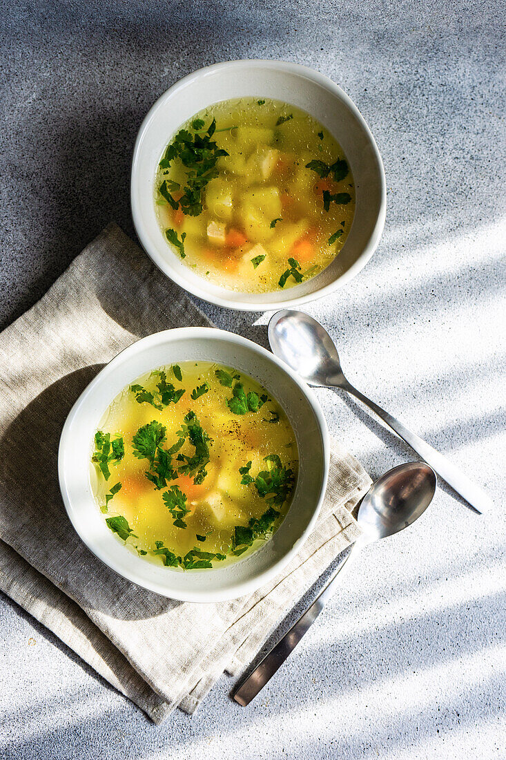
<instances>
[{"instance_id":1,"label":"bright handle of the upper spoon, pointing to lower right","mask_svg":"<svg viewBox=\"0 0 506 760\"><path fill-rule=\"evenodd\" d=\"M340 388L348 391L349 394L352 394L358 398L359 401L362 401L362 404L365 404L366 407L372 409L372 411L375 412L384 423L387 423L394 432L397 432L397 435L400 435L400 438L402 438L403 441L406 441L406 443L409 444L443 480L446 480L448 485L451 486L459 496L462 496L468 504L476 509L477 512L483 513L492 509L492 500L485 491L480 486L477 486L476 483L473 483L473 481L464 475L463 472L460 472L458 467L455 467L455 465L444 457L443 454L440 454L439 451L436 451L435 448L432 448L432 446L423 441L419 435L416 435L416 433L407 429L403 423L396 420L391 414L384 409L381 409L381 407L378 407L378 404L375 404L374 401L371 401L371 399L364 396L363 393L360 393L356 388L353 388L353 385L349 385L349 383L346 382L346 385L340 385Z\"/></svg>"}]
</instances>

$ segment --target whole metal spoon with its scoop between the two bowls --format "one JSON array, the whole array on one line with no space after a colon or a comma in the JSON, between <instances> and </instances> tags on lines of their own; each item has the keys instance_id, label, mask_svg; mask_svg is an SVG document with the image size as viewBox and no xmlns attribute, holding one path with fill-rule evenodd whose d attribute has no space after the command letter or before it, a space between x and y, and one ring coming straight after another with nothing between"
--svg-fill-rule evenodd
<instances>
[{"instance_id":1,"label":"whole metal spoon with its scoop between the two bowls","mask_svg":"<svg viewBox=\"0 0 506 760\"><path fill-rule=\"evenodd\" d=\"M477 512L492 508L492 501L485 491L461 473L443 454L353 388L343 374L334 341L318 321L304 312L277 312L269 322L269 342L273 353L298 372L309 385L343 388L372 409Z\"/></svg>"}]
</instances>

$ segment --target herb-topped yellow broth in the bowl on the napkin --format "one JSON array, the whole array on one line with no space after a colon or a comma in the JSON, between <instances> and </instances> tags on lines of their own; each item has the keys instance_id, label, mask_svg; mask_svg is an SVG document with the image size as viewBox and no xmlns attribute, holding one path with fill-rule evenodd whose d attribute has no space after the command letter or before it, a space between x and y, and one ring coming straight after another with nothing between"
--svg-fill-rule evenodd
<instances>
[{"instance_id":1,"label":"herb-topped yellow broth in the bowl on the napkin","mask_svg":"<svg viewBox=\"0 0 506 760\"><path fill-rule=\"evenodd\" d=\"M277 530L298 460L286 413L264 388L229 367L185 362L115 397L93 442L91 483L107 526L140 556L211 568Z\"/></svg>"}]
</instances>

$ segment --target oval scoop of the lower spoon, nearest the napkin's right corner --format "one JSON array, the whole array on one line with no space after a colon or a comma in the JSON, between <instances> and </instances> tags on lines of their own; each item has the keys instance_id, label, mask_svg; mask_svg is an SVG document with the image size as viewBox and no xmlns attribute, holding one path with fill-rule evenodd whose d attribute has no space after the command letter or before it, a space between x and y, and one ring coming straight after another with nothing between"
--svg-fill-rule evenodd
<instances>
[{"instance_id":1,"label":"oval scoop of the lower spoon, nearest the napkin's right corner","mask_svg":"<svg viewBox=\"0 0 506 760\"><path fill-rule=\"evenodd\" d=\"M418 520L432 502L436 477L424 462L407 462L384 473L359 506L365 543L393 536Z\"/></svg>"}]
</instances>

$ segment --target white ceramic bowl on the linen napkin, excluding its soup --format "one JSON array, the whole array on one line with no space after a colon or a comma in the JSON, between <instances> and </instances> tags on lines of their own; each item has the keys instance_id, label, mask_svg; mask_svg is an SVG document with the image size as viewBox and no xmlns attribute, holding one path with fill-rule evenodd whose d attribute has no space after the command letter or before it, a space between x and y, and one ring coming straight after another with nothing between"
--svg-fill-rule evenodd
<instances>
[{"instance_id":1,"label":"white ceramic bowl on the linen napkin, excluding its soup","mask_svg":"<svg viewBox=\"0 0 506 760\"><path fill-rule=\"evenodd\" d=\"M106 526L93 499L93 436L112 399L144 372L188 360L233 366L258 380L280 402L296 434L299 477L288 514L271 540L238 562L212 570L181 571L147 562ZM282 570L312 530L329 466L327 423L312 391L264 348L213 328L166 330L138 340L115 356L77 399L59 446L63 501L77 534L120 575L172 599L211 602L255 591Z\"/></svg>"}]
</instances>

